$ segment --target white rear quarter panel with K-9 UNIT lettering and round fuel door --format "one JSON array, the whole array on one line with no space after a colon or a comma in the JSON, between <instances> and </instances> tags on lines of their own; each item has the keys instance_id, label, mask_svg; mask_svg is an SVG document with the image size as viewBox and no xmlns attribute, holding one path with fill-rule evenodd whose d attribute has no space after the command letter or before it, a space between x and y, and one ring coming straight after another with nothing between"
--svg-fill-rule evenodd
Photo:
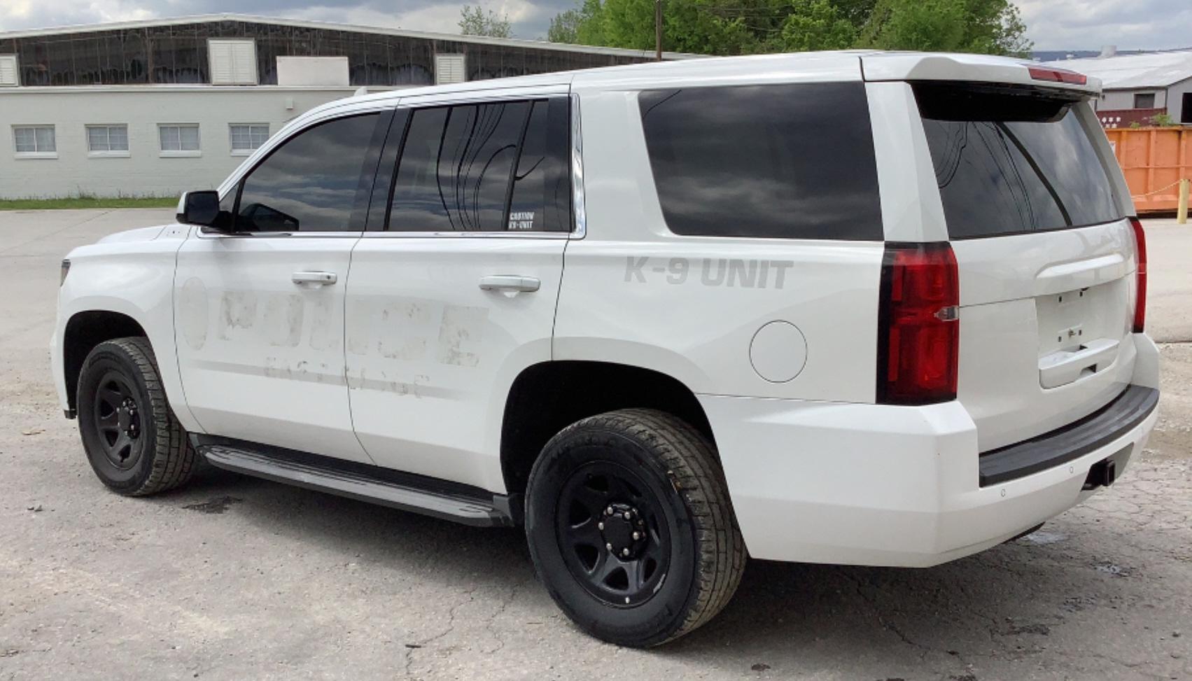
<instances>
[{"instance_id":1,"label":"white rear quarter panel with K-9 UNIT lettering and round fuel door","mask_svg":"<svg viewBox=\"0 0 1192 681\"><path fill-rule=\"evenodd\" d=\"M861 80L851 54L814 55L794 73L701 64L668 68L666 86ZM583 116L589 236L567 246L554 358L652 369L696 394L871 401L882 244L671 233L653 190L635 92L657 79L644 80L646 68L629 73L578 74L572 86ZM806 342L776 358L805 358L783 382L758 374L750 357L755 334L775 321L795 326Z\"/></svg>"}]
</instances>

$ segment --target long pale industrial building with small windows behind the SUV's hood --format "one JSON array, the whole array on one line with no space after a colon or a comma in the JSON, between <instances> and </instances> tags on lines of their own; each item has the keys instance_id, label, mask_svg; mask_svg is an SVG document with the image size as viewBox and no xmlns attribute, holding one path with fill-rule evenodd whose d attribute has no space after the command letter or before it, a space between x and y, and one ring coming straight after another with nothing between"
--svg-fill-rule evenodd
<instances>
[{"instance_id":1,"label":"long pale industrial building with small windows behind the SUV's hood","mask_svg":"<svg viewBox=\"0 0 1192 681\"><path fill-rule=\"evenodd\" d=\"M360 87L652 60L237 14L0 32L0 198L212 188L287 120Z\"/></svg>"}]
</instances>

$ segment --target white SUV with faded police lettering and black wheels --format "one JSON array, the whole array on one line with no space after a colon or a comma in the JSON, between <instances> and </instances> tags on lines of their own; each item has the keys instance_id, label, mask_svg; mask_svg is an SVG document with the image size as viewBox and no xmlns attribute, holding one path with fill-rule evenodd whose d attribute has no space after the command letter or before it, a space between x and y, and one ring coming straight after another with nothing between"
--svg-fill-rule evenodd
<instances>
[{"instance_id":1,"label":"white SUV with faded police lettering and black wheels","mask_svg":"<svg viewBox=\"0 0 1192 681\"><path fill-rule=\"evenodd\" d=\"M524 525L585 631L756 558L925 567L1120 475L1155 422L1143 233L1070 72L691 60L296 118L178 224L63 262L99 478L211 464Z\"/></svg>"}]
</instances>

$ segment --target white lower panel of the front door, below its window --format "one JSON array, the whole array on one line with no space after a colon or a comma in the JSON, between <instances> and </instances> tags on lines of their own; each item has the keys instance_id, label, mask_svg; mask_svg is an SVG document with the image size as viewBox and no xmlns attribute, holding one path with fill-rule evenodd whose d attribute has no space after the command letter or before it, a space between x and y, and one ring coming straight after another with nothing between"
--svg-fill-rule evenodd
<instances>
[{"instance_id":1,"label":"white lower panel of the front door, below its window","mask_svg":"<svg viewBox=\"0 0 1192 681\"><path fill-rule=\"evenodd\" d=\"M201 235L182 246L178 364L204 432L370 462L352 431L343 364L358 239ZM298 272L337 280L298 284Z\"/></svg>"}]
</instances>

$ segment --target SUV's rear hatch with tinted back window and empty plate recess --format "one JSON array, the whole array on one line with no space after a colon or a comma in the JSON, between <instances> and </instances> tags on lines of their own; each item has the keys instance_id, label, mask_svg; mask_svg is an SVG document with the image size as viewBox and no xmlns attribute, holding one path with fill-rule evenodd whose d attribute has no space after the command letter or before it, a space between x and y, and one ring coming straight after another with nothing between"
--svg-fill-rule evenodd
<instances>
[{"instance_id":1,"label":"SUV's rear hatch with tinted back window and empty plate recess","mask_svg":"<svg viewBox=\"0 0 1192 681\"><path fill-rule=\"evenodd\" d=\"M980 450L1095 411L1132 374L1136 258L1087 93L912 88L960 272L957 398Z\"/></svg>"}]
</instances>

